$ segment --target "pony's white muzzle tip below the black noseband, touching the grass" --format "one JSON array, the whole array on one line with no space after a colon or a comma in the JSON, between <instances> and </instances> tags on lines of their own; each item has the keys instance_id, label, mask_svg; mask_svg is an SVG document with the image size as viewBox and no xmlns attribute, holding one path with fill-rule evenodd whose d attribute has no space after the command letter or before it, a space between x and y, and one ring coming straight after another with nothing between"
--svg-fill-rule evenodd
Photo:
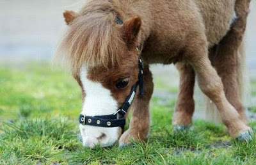
<instances>
[{"instance_id":1,"label":"pony's white muzzle tip below the black noseband, touching the grass","mask_svg":"<svg viewBox=\"0 0 256 165\"><path fill-rule=\"evenodd\" d=\"M90 125L80 125L79 127L83 146L88 148L95 148L97 145L101 147L115 145L122 134L120 127L102 128Z\"/></svg>"}]
</instances>

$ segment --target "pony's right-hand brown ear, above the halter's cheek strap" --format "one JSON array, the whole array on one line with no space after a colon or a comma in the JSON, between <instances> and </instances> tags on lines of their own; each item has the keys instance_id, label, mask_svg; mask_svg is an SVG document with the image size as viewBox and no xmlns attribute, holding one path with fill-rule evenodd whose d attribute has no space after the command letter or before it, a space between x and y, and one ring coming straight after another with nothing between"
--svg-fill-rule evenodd
<instances>
[{"instance_id":1,"label":"pony's right-hand brown ear, above the halter's cheek strap","mask_svg":"<svg viewBox=\"0 0 256 165\"><path fill-rule=\"evenodd\" d=\"M136 42L138 40L138 34L141 28L141 18L139 16L134 16L129 18L124 22L124 40L128 47L136 47Z\"/></svg>"}]
</instances>

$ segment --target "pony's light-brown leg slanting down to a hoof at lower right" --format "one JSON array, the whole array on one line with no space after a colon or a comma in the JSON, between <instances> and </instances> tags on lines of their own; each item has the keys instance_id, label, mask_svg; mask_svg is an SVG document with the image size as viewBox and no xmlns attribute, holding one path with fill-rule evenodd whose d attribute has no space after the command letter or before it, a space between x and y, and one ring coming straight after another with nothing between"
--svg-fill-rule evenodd
<instances>
[{"instance_id":1,"label":"pony's light-brown leg slanting down to a hoof at lower right","mask_svg":"<svg viewBox=\"0 0 256 165\"><path fill-rule=\"evenodd\" d=\"M190 54L186 54L189 63L196 72L200 89L216 104L220 111L221 120L228 128L230 136L241 140L252 139L249 132L250 127L243 122L239 113L225 96L221 79L207 57L206 40L201 38L201 41L197 42L199 43L198 46L191 45L191 47L188 47L188 50L191 51L189 51Z\"/></svg>"}]
</instances>

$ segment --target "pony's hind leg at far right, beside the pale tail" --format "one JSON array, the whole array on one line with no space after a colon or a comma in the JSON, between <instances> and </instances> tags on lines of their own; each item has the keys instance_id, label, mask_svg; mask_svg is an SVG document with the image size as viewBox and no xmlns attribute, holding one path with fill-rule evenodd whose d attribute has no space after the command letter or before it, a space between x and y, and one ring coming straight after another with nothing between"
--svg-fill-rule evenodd
<instances>
[{"instance_id":1,"label":"pony's hind leg at far right, beside the pale tail","mask_svg":"<svg viewBox=\"0 0 256 165\"><path fill-rule=\"evenodd\" d=\"M239 88L243 85L242 61L245 56L241 49L243 49L242 40L246 28L249 4L250 1L248 0L237 1L237 19L234 20L230 31L228 31L227 35L218 44L216 52L210 56L212 65L216 68L223 82L228 102L236 108L244 123L248 123L248 119L241 102L242 91L239 91Z\"/></svg>"}]
</instances>

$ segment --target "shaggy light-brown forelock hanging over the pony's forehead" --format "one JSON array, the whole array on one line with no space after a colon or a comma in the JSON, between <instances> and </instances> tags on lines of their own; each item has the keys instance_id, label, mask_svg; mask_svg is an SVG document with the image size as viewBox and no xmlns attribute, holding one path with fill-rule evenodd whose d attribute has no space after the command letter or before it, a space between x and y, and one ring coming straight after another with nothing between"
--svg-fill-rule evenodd
<instances>
[{"instance_id":1,"label":"shaggy light-brown forelock hanging over the pony's forehead","mask_svg":"<svg viewBox=\"0 0 256 165\"><path fill-rule=\"evenodd\" d=\"M109 67L118 64L122 54L120 31L115 27L116 12L109 1L88 1L78 12L78 17L68 26L56 51L54 61L69 65L78 72L82 65ZM120 44L121 43L121 44Z\"/></svg>"}]
</instances>

